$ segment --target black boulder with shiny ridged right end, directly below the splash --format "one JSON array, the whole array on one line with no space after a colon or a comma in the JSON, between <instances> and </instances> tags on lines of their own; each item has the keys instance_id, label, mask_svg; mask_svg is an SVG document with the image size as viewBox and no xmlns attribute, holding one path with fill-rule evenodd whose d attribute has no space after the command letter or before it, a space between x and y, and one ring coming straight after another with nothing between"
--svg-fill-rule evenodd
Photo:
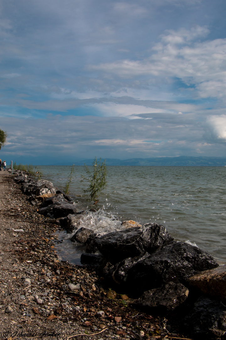
<instances>
[{"instance_id":1,"label":"black boulder with shiny ridged right end, directly below the splash","mask_svg":"<svg viewBox=\"0 0 226 340\"><path fill-rule=\"evenodd\" d=\"M105 234L96 238L94 243L101 254L114 264L143 252L151 254L172 240L173 237L163 225L149 223L142 227Z\"/></svg>"}]
</instances>

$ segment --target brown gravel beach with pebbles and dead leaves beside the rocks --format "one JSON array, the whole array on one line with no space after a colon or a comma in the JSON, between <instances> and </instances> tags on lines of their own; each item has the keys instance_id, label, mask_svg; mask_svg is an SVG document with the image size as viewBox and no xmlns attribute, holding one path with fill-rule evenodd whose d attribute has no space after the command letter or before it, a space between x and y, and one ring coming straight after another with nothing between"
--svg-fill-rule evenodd
<instances>
[{"instance_id":1,"label":"brown gravel beach with pebbles and dead leaves beside the rocks","mask_svg":"<svg viewBox=\"0 0 226 340\"><path fill-rule=\"evenodd\" d=\"M126 292L112 293L91 268L60 261L58 226L13 178L0 172L0 339L184 338L164 318L131 308L119 295Z\"/></svg>"}]
</instances>

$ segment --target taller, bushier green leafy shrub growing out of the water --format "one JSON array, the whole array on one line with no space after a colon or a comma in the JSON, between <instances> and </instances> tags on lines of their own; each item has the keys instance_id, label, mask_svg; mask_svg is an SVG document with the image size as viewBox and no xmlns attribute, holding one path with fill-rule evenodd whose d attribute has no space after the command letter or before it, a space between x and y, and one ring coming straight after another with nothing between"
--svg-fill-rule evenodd
<instances>
[{"instance_id":1,"label":"taller, bushier green leafy shrub growing out of the water","mask_svg":"<svg viewBox=\"0 0 226 340\"><path fill-rule=\"evenodd\" d=\"M97 157L94 158L92 171L89 171L88 167L85 165L85 171L87 177L82 176L85 181L89 182L89 187L86 190L83 190L84 193L89 193L89 201L97 201L98 195L100 191L105 187L107 181L107 167L104 162L101 163L100 160L97 160Z\"/></svg>"}]
</instances>

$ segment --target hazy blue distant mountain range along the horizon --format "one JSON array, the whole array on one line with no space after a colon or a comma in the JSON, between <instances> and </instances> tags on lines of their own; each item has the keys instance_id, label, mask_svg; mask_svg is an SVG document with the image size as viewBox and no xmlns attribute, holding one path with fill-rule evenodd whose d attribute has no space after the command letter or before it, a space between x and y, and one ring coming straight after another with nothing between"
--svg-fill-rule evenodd
<instances>
[{"instance_id":1,"label":"hazy blue distant mountain range along the horizon","mask_svg":"<svg viewBox=\"0 0 226 340\"><path fill-rule=\"evenodd\" d=\"M104 159L103 159L104 160ZM106 158L106 165L125 165L125 166L226 166L226 157L153 157L153 158L130 158L117 159ZM93 159L84 159L74 162L75 165L92 165ZM61 165L61 164L56 164ZM71 165L65 164L62 165Z\"/></svg>"}]
</instances>

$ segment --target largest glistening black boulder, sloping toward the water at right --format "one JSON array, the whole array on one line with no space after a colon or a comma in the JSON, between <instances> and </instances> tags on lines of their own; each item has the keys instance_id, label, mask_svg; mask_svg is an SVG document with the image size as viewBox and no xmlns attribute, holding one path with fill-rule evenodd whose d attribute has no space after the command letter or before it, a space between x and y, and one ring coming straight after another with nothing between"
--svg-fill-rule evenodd
<instances>
[{"instance_id":1,"label":"largest glistening black boulder, sloping toward the water at right","mask_svg":"<svg viewBox=\"0 0 226 340\"><path fill-rule=\"evenodd\" d=\"M218 267L212 256L186 242L172 241L157 252L132 266L124 281L137 292L161 287L168 282L186 285L187 279L198 272Z\"/></svg>"}]
</instances>

